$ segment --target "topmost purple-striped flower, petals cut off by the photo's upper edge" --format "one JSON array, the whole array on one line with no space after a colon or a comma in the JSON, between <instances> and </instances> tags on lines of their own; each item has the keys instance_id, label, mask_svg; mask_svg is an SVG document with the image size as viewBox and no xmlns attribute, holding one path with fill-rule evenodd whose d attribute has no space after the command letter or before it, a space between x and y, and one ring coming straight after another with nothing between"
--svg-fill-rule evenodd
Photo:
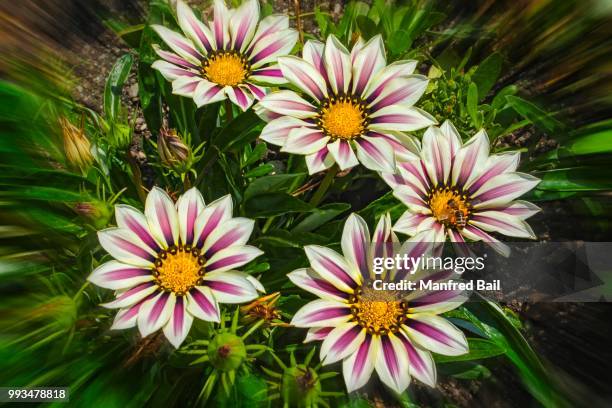
<instances>
[{"instance_id":1,"label":"topmost purple-striped flower, petals cut off by the photo's upper edge","mask_svg":"<svg viewBox=\"0 0 612 408\"><path fill-rule=\"evenodd\" d=\"M186 37L160 25L153 29L174 52L156 47L162 60L157 69L172 81L172 92L193 98L198 106L229 98L246 110L254 98L261 99L261 84L284 83L276 65L297 41L287 16L272 15L259 21L259 3L247 0L228 10L215 0L214 19L202 23L181 0L176 3L177 20Z\"/></svg>"}]
</instances>

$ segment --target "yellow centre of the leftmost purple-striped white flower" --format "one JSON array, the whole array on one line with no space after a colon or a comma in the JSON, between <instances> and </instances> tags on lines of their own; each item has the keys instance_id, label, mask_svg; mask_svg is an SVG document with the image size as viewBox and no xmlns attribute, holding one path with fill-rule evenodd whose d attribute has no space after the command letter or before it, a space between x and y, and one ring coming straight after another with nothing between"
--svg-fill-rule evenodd
<instances>
[{"instance_id":1,"label":"yellow centre of the leftmost purple-striped white flower","mask_svg":"<svg viewBox=\"0 0 612 408\"><path fill-rule=\"evenodd\" d=\"M157 284L163 290L179 296L187 293L201 283L204 275L204 258L199 255L199 250L188 246L160 253L153 270Z\"/></svg>"}]
</instances>

